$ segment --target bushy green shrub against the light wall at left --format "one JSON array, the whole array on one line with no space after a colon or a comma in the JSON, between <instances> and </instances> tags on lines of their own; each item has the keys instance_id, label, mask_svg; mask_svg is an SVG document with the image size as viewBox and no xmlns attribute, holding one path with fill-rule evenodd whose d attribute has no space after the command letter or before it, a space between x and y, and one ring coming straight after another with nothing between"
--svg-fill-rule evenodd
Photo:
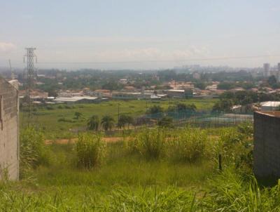
<instances>
[{"instance_id":1,"label":"bushy green shrub against the light wall at left","mask_svg":"<svg viewBox=\"0 0 280 212\"><path fill-rule=\"evenodd\" d=\"M48 151L41 131L27 127L20 132L20 177L30 168L48 164Z\"/></svg>"}]
</instances>

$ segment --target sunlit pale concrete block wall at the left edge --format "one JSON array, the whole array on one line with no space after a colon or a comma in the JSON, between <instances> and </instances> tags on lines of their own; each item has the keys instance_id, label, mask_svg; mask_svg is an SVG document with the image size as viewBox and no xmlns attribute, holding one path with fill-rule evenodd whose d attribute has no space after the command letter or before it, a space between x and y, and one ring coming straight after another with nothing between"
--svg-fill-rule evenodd
<instances>
[{"instance_id":1,"label":"sunlit pale concrete block wall at the left edge","mask_svg":"<svg viewBox=\"0 0 280 212\"><path fill-rule=\"evenodd\" d=\"M18 180L18 90L1 78L0 99L0 178L8 171L10 180Z\"/></svg>"}]
</instances>

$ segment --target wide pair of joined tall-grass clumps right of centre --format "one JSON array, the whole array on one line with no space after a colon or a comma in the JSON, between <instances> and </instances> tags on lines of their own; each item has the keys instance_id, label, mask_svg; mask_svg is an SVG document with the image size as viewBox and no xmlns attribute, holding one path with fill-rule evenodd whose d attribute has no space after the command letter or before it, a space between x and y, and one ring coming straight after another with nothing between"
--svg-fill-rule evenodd
<instances>
[{"instance_id":1,"label":"wide pair of joined tall-grass clumps right of centre","mask_svg":"<svg viewBox=\"0 0 280 212\"><path fill-rule=\"evenodd\" d=\"M207 157L209 139L207 131L200 128L167 128L144 129L127 140L130 152L138 152L148 159L173 159L194 163Z\"/></svg>"}]
</instances>

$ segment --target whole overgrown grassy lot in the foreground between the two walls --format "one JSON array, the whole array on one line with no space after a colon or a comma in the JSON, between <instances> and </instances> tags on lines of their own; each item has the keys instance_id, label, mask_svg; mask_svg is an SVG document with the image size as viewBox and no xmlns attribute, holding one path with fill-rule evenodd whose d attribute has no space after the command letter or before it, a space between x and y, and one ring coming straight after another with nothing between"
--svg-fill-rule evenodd
<instances>
[{"instance_id":1,"label":"whole overgrown grassy lot in the foreground between the two walls","mask_svg":"<svg viewBox=\"0 0 280 212\"><path fill-rule=\"evenodd\" d=\"M244 128L242 133L235 128L159 132L107 144L106 157L92 169L76 166L73 144L45 146L48 162L18 183L1 183L0 211L280 210L280 185L260 187L237 160L249 144ZM174 157L174 147L188 148ZM223 153L223 171L217 168L217 151Z\"/></svg>"}]
</instances>

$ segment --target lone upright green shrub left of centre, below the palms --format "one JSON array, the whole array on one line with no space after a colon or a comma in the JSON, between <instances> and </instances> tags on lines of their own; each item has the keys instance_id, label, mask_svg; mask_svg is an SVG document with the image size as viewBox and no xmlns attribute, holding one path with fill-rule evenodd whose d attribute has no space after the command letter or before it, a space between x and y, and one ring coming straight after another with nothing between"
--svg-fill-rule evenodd
<instances>
[{"instance_id":1,"label":"lone upright green shrub left of centre, below the palms","mask_svg":"<svg viewBox=\"0 0 280 212\"><path fill-rule=\"evenodd\" d=\"M94 168L100 166L106 154L106 143L101 134L80 133L76 143L78 166Z\"/></svg>"}]
</instances>

